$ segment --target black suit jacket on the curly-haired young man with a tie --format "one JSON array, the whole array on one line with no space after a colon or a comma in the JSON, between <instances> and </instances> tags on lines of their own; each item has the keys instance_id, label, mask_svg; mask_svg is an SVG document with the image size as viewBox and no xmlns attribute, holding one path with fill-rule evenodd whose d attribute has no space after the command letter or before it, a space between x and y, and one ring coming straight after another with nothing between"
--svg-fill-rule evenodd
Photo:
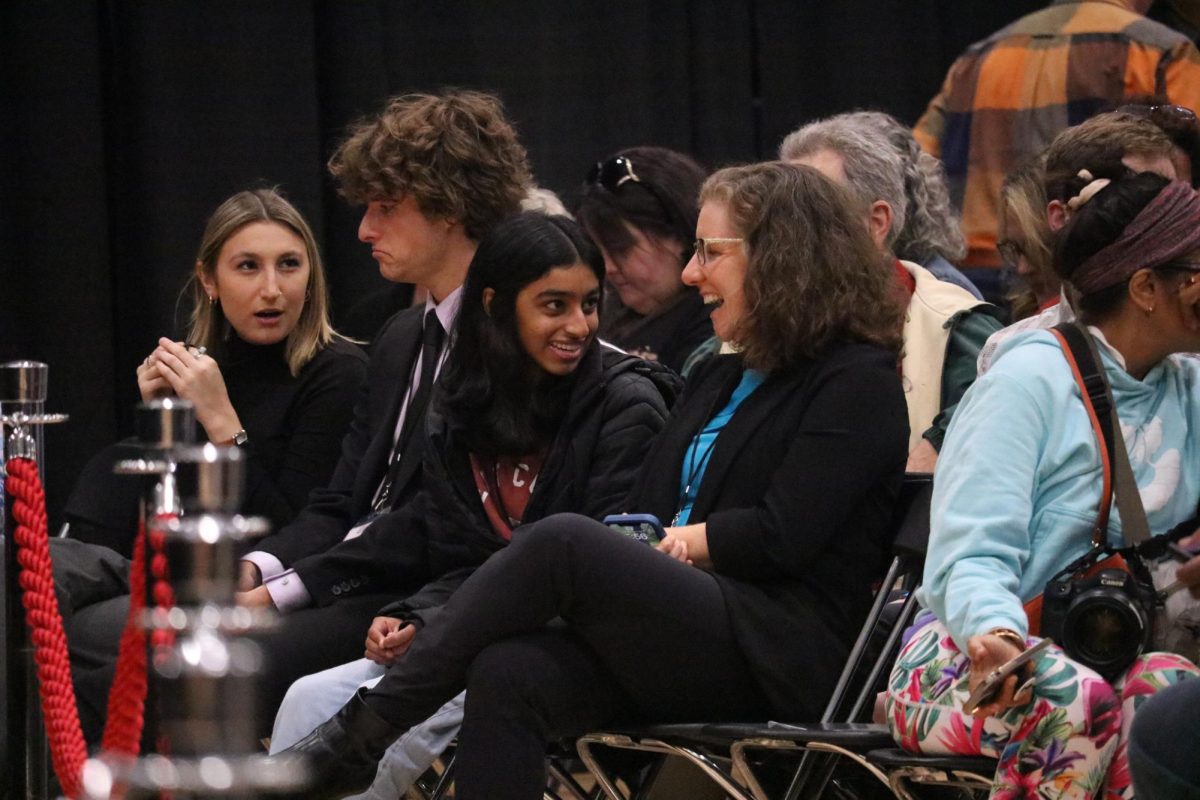
<instances>
[{"instance_id":1,"label":"black suit jacket on the curly-haired young man with a tie","mask_svg":"<svg viewBox=\"0 0 1200 800\"><path fill-rule=\"evenodd\" d=\"M268 536L253 549L275 555L290 567L296 560L322 553L342 541L346 533L371 510L371 500L388 470L396 419L408 380L421 350L425 307L400 312L384 325L371 347L367 377L354 404L354 421L342 439L342 456L325 488L314 489L308 505L292 524ZM418 426L402 456L392 498L402 505L415 491L425 450L425 426Z\"/></svg>"}]
</instances>

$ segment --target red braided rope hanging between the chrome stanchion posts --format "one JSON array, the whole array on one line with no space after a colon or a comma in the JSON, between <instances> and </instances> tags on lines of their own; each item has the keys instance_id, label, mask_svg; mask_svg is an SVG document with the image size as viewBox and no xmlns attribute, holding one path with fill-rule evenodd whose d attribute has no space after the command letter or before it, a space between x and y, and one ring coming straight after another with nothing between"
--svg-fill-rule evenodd
<instances>
[{"instance_id":1,"label":"red braided rope hanging between the chrome stanchion posts","mask_svg":"<svg viewBox=\"0 0 1200 800\"><path fill-rule=\"evenodd\" d=\"M62 630L58 597L54 594L46 493L37 474L37 464L25 458L10 461L5 491L12 497L12 516L17 523L13 541L18 548L17 561L20 565L19 584L25 606L25 624L35 648L34 658L37 663L38 690L50 745L50 760L64 793L68 798L77 798L83 764L88 758L88 746L79 726L79 711L76 706L74 687L71 684L67 639ZM155 602L164 608L170 608L175 602L169 583L167 557L163 553L166 537L157 527L146 535L144 523L139 523L138 536L133 545L133 563L130 566L130 614L121 633L116 674L108 694L108 718L101 744L106 753L122 758L138 756L145 721L146 646L139 618L145 608L148 539L154 549L150 571L155 578L152 589ZM150 640L156 648L169 648L174 644L175 636L168 630L156 630L151 633Z\"/></svg>"}]
</instances>

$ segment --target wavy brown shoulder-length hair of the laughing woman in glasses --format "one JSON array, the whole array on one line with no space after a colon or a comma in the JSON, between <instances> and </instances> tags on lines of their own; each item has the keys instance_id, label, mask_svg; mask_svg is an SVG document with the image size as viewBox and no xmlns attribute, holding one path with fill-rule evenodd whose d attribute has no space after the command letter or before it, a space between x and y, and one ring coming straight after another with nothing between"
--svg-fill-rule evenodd
<instances>
[{"instance_id":1,"label":"wavy brown shoulder-length hair of the laughing woman in glasses","mask_svg":"<svg viewBox=\"0 0 1200 800\"><path fill-rule=\"evenodd\" d=\"M904 303L846 190L810 167L768 162L714 173L700 200L726 204L745 239L746 366L791 367L838 341L900 353Z\"/></svg>"}]
</instances>

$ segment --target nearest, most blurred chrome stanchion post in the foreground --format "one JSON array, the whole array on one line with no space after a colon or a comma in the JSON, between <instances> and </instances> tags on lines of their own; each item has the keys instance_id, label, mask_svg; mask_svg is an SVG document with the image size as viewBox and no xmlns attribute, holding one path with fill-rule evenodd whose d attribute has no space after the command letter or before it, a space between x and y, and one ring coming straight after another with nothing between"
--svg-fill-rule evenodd
<instances>
[{"instance_id":1,"label":"nearest, most blurred chrome stanchion post in the foreground","mask_svg":"<svg viewBox=\"0 0 1200 800\"><path fill-rule=\"evenodd\" d=\"M115 777L138 794L257 798L295 792L307 780L304 764L268 759L254 735L263 655L251 636L270 628L276 615L236 604L239 555L247 540L269 528L265 519L236 513L242 453L203 445L175 447L172 459L184 513L148 524L164 540L174 604L150 608L144 616L151 636L169 631L174 639L155 649L151 668L158 730L169 752L138 759ZM100 784L106 782L108 777Z\"/></svg>"}]
</instances>

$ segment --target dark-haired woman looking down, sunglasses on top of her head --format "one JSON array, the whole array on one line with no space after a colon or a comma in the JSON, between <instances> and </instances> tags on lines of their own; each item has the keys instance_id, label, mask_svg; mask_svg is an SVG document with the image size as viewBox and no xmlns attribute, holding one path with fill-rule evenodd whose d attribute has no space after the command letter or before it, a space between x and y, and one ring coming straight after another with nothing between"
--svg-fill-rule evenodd
<instances>
[{"instance_id":1,"label":"dark-haired woman looking down, sunglasses on top of her head","mask_svg":"<svg viewBox=\"0 0 1200 800\"><path fill-rule=\"evenodd\" d=\"M676 372L713 333L680 272L696 230L704 169L666 148L628 148L588 173L578 219L604 253L608 288L600 336Z\"/></svg>"}]
</instances>

